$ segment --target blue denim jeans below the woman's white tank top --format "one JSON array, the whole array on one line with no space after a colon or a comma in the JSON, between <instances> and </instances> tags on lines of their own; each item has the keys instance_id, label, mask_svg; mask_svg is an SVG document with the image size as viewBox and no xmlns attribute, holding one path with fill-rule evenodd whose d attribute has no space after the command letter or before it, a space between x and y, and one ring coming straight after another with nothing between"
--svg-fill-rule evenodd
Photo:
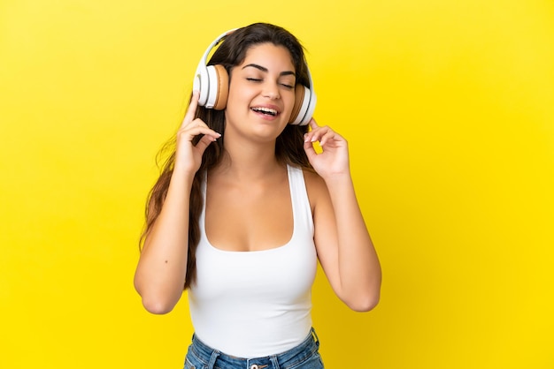
<instances>
[{"instance_id":1,"label":"blue denim jeans below the woman's white tank top","mask_svg":"<svg viewBox=\"0 0 554 369\"><path fill-rule=\"evenodd\" d=\"M265 358L235 358L206 346L192 336L185 369L323 369L318 335L312 328L303 343Z\"/></svg>"}]
</instances>

